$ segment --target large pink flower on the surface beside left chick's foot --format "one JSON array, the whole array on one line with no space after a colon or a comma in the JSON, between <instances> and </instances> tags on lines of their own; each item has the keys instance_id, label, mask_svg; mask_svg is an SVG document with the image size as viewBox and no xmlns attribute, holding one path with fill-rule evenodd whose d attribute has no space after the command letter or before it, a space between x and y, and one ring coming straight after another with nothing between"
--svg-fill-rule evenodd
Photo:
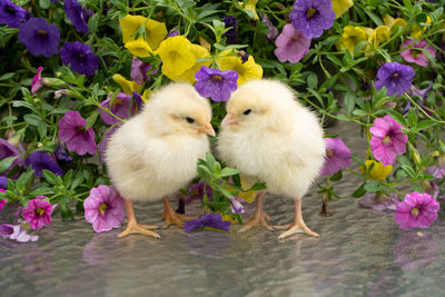
<instances>
[{"instance_id":1,"label":"large pink flower on the surface beside left chick's foot","mask_svg":"<svg viewBox=\"0 0 445 297\"><path fill-rule=\"evenodd\" d=\"M122 197L112 187L100 185L92 188L83 201L85 219L97 232L119 228L126 216Z\"/></svg>"}]
</instances>

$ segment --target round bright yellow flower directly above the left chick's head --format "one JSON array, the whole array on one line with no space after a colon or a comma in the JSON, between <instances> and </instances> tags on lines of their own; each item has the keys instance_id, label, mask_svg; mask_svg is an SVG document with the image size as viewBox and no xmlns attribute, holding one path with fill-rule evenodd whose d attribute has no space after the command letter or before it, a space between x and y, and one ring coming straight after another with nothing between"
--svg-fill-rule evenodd
<instances>
[{"instance_id":1,"label":"round bright yellow flower directly above the left chick's head","mask_svg":"<svg viewBox=\"0 0 445 297\"><path fill-rule=\"evenodd\" d=\"M157 53L162 60L162 73L171 80L179 79L196 63L192 44L184 36L167 38L160 43Z\"/></svg>"}]
</instances>

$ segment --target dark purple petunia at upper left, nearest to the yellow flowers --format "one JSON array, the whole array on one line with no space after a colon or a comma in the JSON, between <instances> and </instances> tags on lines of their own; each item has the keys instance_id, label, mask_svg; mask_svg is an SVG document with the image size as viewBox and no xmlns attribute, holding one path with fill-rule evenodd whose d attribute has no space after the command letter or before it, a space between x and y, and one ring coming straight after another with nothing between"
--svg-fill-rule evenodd
<instances>
[{"instance_id":1,"label":"dark purple petunia at upper left, nearest to the yellow flowers","mask_svg":"<svg viewBox=\"0 0 445 297\"><path fill-rule=\"evenodd\" d=\"M60 49L63 65L71 65L70 69L80 75L92 76L99 68L99 57L91 51L91 47L80 41L65 42Z\"/></svg>"}]
</instances>

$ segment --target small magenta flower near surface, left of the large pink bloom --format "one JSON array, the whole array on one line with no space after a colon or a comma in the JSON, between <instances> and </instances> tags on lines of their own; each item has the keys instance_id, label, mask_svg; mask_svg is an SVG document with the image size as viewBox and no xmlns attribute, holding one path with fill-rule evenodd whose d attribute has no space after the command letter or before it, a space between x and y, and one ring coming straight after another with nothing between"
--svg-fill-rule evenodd
<instances>
[{"instance_id":1,"label":"small magenta flower near surface, left of the large pink bloom","mask_svg":"<svg viewBox=\"0 0 445 297\"><path fill-rule=\"evenodd\" d=\"M29 222L32 229L40 229L41 227L51 224L51 214L55 209L55 206L51 206L50 202L42 200L48 197L37 196L21 210L23 219Z\"/></svg>"}]
</instances>

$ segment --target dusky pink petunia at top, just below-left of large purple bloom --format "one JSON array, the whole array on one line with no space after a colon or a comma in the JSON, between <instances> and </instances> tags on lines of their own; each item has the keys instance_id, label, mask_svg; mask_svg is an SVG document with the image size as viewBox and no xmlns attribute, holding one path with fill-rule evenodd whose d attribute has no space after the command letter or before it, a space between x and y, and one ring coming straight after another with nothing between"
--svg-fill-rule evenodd
<instances>
[{"instance_id":1,"label":"dusky pink petunia at top, just below-left of large purple bloom","mask_svg":"<svg viewBox=\"0 0 445 297\"><path fill-rule=\"evenodd\" d=\"M296 63L309 51L310 39L303 37L290 23L283 28L283 32L275 40L277 48L275 56L283 63L289 61Z\"/></svg>"}]
</instances>

